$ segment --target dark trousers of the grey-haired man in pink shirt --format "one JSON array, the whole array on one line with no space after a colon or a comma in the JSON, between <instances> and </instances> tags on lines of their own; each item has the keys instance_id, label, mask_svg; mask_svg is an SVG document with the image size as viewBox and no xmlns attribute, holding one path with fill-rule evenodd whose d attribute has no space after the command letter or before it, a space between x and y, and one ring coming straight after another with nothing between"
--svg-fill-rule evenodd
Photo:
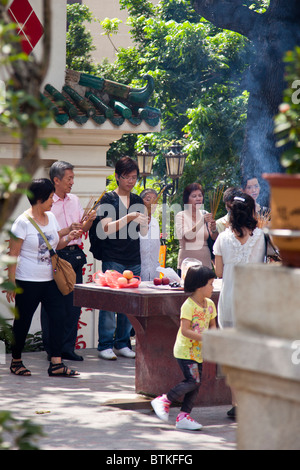
<instances>
[{"instance_id":1,"label":"dark trousers of the grey-haired man in pink shirt","mask_svg":"<svg viewBox=\"0 0 300 470\"><path fill-rule=\"evenodd\" d=\"M83 251L77 246L74 249L66 247L63 250L57 251L60 258L67 260L73 267L76 273L76 284L82 283L82 267L86 263L86 256ZM63 330L63 345L62 353L72 353L75 349L78 321L80 318L81 307L74 307L73 305L73 292L69 295L63 296L64 302L64 330ZM44 348L49 354L49 321L46 312L42 306L41 309L41 325L43 332Z\"/></svg>"}]
</instances>

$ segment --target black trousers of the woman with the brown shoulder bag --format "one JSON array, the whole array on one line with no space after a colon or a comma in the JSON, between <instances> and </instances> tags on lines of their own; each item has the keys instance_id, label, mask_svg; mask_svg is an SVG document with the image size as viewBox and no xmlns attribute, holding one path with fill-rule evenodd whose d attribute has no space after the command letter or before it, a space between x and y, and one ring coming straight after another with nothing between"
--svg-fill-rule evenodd
<instances>
[{"instance_id":1,"label":"black trousers of the woman with the brown shoulder bag","mask_svg":"<svg viewBox=\"0 0 300 470\"><path fill-rule=\"evenodd\" d=\"M49 354L60 357L63 338L63 295L55 281L31 282L16 281L22 293L16 295L17 317L13 323L14 341L12 357L19 359L24 349L26 336L30 329L32 317L40 303L44 306L49 324Z\"/></svg>"}]
</instances>

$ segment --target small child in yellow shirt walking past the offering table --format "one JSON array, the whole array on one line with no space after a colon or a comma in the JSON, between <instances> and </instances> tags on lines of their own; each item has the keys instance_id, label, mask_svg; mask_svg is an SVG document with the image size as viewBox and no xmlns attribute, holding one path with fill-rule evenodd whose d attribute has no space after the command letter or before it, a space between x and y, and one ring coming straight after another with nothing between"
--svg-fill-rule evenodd
<instances>
[{"instance_id":1,"label":"small child in yellow shirt walking past the offering table","mask_svg":"<svg viewBox=\"0 0 300 470\"><path fill-rule=\"evenodd\" d=\"M152 400L156 415L163 421L169 419L170 405L183 395L184 400L176 419L177 429L200 430L202 425L190 417L202 375L202 333L216 328L216 307L210 299L213 293L215 273L206 266L191 266L184 281L185 292L191 296L181 307L180 328L174 345L174 356L184 379L166 395Z\"/></svg>"}]
</instances>

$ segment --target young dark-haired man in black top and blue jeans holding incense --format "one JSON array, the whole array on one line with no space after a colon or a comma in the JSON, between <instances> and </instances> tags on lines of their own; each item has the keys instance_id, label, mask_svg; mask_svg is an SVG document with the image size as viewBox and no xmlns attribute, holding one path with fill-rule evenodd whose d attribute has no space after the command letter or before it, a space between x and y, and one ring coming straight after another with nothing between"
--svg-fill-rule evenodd
<instances>
[{"instance_id":1,"label":"young dark-haired man in black top and blue jeans holding incense","mask_svg":"<svg viewBox=\"0 0 300 470\"><path fill-rule=\"evenodd\" d=\"M137 182L139 168L130 157L117 161L115 177L117 189L106 193L99 212L103 230L102 271L125 270L139 276L141 272L140 236L148 232L148 215L143 200L132 190ZM116 360L117 356L134 358L130 349L131 323L123 313L100 310L99 357Z\"/></svg>"}]
</instances>

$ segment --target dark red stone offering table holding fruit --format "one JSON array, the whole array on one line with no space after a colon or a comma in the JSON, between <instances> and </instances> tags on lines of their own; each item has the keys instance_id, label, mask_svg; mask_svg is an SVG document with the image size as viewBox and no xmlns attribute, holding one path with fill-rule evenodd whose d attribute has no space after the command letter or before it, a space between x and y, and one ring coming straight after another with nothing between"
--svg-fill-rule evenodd
<instances>
[{"instance_id":1,"label":"dark red stone offering table holding fruit","mask_svg":"<svg viewBox=\"0 0 300 470\"><path fill-rule=\"evenodd\" d=\"M173 356L173 346L180 323L180 307L188 295L169 286L142 282L138 288L112 289L97 284L76 284L74 305L125 313L136 333L137 393L157 396L183 380ZM215 281L212 300L217 305L220 281ZM231 393L224 377L218 376L216 364L204 362L198 406L231 403Z\"/></svg>"}]
</instances>

